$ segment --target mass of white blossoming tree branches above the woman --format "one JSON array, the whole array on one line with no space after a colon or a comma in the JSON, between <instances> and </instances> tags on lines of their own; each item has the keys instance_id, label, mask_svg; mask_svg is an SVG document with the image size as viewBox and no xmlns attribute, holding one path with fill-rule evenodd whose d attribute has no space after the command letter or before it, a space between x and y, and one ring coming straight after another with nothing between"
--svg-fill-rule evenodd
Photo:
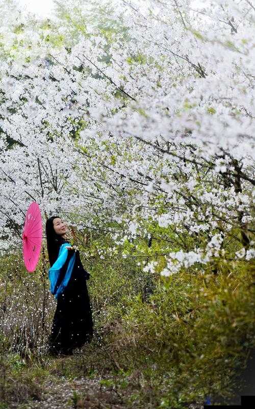
<instances>
[{"instance_id":1,"label":"mass of white blossoming tree branches above the woman","mask_svg":"<svg viewBox=\"0 0 255 409\"><path fill-rule=\"evenodd\" d=\"M0 125L16 142L1 141L2 226L13 230L10 200L24 211L33 197L115 223L119 244L147 236L145 269L163 275L253 258L254 7L116 1L109 20L111 35L88 25L71 46L43 42L44 59L2 68Z\"/></svg>"}]
</instances>

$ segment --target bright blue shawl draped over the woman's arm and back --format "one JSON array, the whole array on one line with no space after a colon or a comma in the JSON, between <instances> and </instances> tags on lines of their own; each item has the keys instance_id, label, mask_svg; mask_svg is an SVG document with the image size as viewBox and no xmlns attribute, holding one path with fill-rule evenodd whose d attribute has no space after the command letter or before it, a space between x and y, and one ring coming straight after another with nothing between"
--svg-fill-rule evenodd
<instances>
[{"instance_id":1,"label":"bright blue shawl draped over the woman's arm and back","mask_svg":"<svg viewBox=\"0 0 255 409\"><path fill-rule=\"evenodd\" d=\"M58 278L60 276L60 271L62 267L64 266L64 263L66 262L66 259L67 259L67 255L69 251L67 247L70 247L70 246L71 246L70 243L64 243L60 246L58 258L53 264L53 266L50 267L48 271L48 278L50 281L49 291L55 296L55 298L58 298L58 296L63 293L65 287L67 286L69 282L71 274L72 274L73 264L75 261L75 253L71 256L68 262L68 266L67 266L62 282L59 284L59 286L57 286Z\"/></svg>"}]
</instances>

